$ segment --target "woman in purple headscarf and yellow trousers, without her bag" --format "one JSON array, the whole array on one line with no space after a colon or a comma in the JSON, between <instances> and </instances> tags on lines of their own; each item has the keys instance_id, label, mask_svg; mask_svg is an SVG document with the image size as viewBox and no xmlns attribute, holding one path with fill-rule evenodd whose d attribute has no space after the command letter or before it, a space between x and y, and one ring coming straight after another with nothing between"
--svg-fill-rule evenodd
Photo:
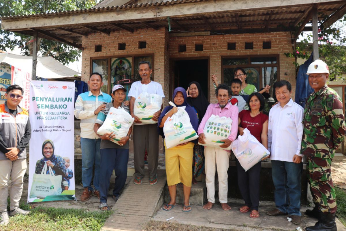
<instances>
[{"instance_id":1,"label":"woman in purple headscarf and yellow trousers, without her bag","mask_svg":"<svg viewBox=\"0 0 346 231\"><path fill-rule=\"evenodd\" d=\"M197 132L198 118L195 110L186 102L186 91L182 87L175 88L173 92L173 101L176 106L185 106L185 111L190 117L190 122L193 129ZM163 126L168 117L172 117L178 111L177 107L167 106L162 111L158 118L158 132L165 138L163 133ZM197 140L194 140L197 142ZM165 145L166 146L166 145ZM166 148L166 175L167 185L171 196L170 203L163 206L163 210L171 210L175 205L176 185L183 184L184 189L184 206L183 212L190 212L190 192L192 181L192 156L193 156L193 142L185 142L173 148Z\"/></svg>"}]
</instances>

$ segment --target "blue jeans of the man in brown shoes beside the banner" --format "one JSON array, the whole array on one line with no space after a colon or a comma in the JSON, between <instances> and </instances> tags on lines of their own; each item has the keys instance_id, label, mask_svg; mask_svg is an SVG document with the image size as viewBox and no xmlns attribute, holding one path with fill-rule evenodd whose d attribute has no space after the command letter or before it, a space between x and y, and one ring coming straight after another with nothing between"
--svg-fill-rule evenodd
<instances>
[{"instance_id":1,"label":"blue jeans of the man in brown shoes beside the banner","mask_svg":"<svg viewBox=\"0 0 346 231\"><path fill-rule=\"evenodd\" d=\"M81 137L82 146L82 184L83 187L88 187L88 190L94 190L91 187L92 170L95 164L95 173L93 185L95 190L99 190L99 178L100 178L100 154L101 139L88 139Z\"/></svg>"}]
</instances>

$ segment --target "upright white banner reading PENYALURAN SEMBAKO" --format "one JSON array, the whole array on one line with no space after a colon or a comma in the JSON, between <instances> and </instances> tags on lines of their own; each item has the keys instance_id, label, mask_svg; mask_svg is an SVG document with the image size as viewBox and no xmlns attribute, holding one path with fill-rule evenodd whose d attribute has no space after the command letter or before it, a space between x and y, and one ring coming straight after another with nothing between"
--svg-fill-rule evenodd
<instances>
[{"instance_id":1,"label":"upright white banner reading PENYALURAN SEMBAKO","mask_svg":"<svg viewBox=\"0 0 346 231\"><path fill-rule=\"evenodd\" d=\"M30 82L28 202L74 199L74 82Z\"/></svg>"}]
</instances>

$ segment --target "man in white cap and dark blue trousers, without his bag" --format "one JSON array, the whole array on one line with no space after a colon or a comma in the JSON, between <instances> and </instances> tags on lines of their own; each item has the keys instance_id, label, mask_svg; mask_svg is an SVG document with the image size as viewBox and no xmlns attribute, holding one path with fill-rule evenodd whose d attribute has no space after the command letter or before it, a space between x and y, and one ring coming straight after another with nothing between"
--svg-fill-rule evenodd
<instances>
[{"instance_id":1,"label":"man in white cap and dark blue trousers, without his bag","mask_svg":"<svg viewBox=\"0 0 346 231\"><path fill-rule=\"evenodd\" d=\"M126 97L126 89L121 85L115 85L112 88L112 102L106 105L106 108L99 112L94 125L94 131L97 134L97 130L101 127L105 121L109 109L111 107L122 107L129 112L129 107L124 105L124 99ZM100 210L109 210L107 205L107 192L110 183L110 177L113 170L115 170L115 185L113 189L113 199L115 202L120 197L120 190L124 187L127 177L127 162L129 160L129 142L132 127L130 127L127 135L122 137L119 144L110 141L115 134L109 132L103 135L98 135L101 138L101 169L100 169Z\"/></svg>"}]
</instances>

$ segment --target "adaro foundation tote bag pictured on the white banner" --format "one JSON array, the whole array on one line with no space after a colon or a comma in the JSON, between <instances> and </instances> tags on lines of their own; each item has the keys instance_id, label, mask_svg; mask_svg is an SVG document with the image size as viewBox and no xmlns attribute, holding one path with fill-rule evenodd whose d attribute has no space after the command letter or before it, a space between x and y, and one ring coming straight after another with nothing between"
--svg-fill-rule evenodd
<instances>
[{"instance_id":1,"label":"adaro foundation tote bag pictured on the white banner","mask_svg":"<svg viewBox=\"0 0 346 231\"><path fill-rule=\"evenodd\" d=\"M45 162L41 174L34 173L30 198L45 198L46 196L56 196L62 193L61 181L63 176L55 176L51 166L48 166L48 169L49 174L46 174L47 162Z\"/></svg>"}]
</instances>

